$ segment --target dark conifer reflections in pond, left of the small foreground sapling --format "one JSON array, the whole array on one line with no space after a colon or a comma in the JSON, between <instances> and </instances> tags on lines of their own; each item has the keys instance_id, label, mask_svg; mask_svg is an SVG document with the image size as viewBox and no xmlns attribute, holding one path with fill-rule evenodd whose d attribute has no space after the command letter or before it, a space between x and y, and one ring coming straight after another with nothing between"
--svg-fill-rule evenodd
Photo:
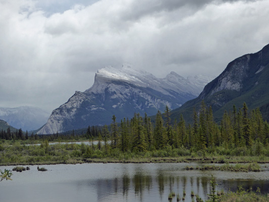
<instances>
[{"instance_id":1,"label":"dark conifer reflections in pond, left of the small foreground sapling","mask_svg":"<svg viewBox=\"0 0 269 202\"><path fill-rule=\"evenodd\" d=\"M136 172L133 176L124 174L122 178L99 179L88 185L95 187L97 201L105 201L111 196L118 198L119 195L128 201L132 201L134 197L139 201L148 201L145 198L150 198L149 201L164 201L169 192L182 195L183 190L186 190L186 201L189 201L191 191L207 198L210 192L209 180L207 177L172 176L158 171L155 177ZM134 196L129 196L129 192Z\"/></svg>"}]
</instances>

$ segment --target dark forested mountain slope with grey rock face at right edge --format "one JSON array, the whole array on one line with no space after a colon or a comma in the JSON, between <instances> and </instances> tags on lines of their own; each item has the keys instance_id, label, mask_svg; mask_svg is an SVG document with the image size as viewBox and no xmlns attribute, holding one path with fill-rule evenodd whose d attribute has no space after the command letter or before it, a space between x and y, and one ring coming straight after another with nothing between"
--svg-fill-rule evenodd
<instances>
[{"instance_id":1,"label":"dark forested mountain slope with grey rock face at right edge","mask_svg":"<svg viewBox=\"0 0 269 202\"><path fill-rule=\"evenodd\" d=\"M261 51L246 54L230 62L226 69L208 83L200 95L172 111L172 118L183 114L191 121L193 108L199 109L204 100L211 106L214 117L220 121L225 110L233 105L242 108L245 102L249 109L260 108L263 118L269 119L269 44Z\"/></svg>"}]
</instances>

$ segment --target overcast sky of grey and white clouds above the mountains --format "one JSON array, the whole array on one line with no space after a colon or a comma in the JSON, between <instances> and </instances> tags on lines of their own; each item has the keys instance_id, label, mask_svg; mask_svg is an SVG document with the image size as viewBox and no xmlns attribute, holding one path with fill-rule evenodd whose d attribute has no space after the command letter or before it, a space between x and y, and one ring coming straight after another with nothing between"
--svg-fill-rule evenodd
<instances>
[{"instance_id":1,"label":"overcast sky of grey and white clouds above the mountains","mask_svg":"<svg viewBox=\"0 0 269 202\"><path fill-rule=\"evenodd\" d=\"M218 76L269 43L269 0L0 0L0 107L51 112L104 66Z\"/></svg>"}]
</instances>

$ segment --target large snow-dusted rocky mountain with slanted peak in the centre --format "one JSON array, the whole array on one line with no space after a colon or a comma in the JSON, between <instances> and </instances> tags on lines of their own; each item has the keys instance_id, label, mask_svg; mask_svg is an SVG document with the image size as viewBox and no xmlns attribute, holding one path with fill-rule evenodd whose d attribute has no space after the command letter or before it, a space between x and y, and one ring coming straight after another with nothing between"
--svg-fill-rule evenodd
<instances>
[{"instance_id":1,"label":"large snow-dusted rocky mountain with slanted peak in the centre","mask_svg":"<svg viewBox=\"0 0 269 202\"><path fill-rule=\"evenodd\" d=\"M156 78L130 65L104 67L95 74L91 88L76 91L67 103L52 111L38 134L110 124L113 115L121 120L134 113L154 115L166 106L175 109L198 96L210 80L206 76L185 79L175 72Z\"/></svg>"}]
</instances>

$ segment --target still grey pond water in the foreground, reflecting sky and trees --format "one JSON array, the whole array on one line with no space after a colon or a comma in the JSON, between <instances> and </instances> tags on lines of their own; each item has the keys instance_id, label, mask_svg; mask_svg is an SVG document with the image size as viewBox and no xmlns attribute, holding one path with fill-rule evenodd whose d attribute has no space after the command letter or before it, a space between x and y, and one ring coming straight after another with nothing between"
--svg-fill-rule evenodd
<instances>
[{"instance_id":1,"label":"still grey pond water in the foreground, reflecting sky and trees","mask_svg":"<svg viewBox=\"0 0 269 202\"><path fill-rule=\"evenodd\" d=\"M269 164L262 172L185 170L197 163L44 165L48 171L14 172L12 181L0 182L0 201L168 201L171 191L192 201L193 190L203 199L210 193L211 174L217 190L236 190L238 185L269 193ZM1 170L14 166L0 167ZM173 198L176 201L176 198Z\"/></svg>"}]
</instances>

